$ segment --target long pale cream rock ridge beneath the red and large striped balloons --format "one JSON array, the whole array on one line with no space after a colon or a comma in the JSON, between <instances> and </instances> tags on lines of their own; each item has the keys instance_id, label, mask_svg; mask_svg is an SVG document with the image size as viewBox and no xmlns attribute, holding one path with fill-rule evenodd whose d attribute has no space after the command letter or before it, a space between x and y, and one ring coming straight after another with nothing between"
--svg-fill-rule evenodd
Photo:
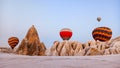
<instances>
[{"instance_id":1,"label":"long pale cream rock ridge beneath the red and large striped balloons","mask_svg":"<svg viewBox=\"0 0 120 68\"><path fill-rule=\"evenodd\" d=\"M48 56L93 56L120 54L120 37L108 42L88 41L84 44L78 41L55 41L46 51Z\"/></svg>"}]
</instances>

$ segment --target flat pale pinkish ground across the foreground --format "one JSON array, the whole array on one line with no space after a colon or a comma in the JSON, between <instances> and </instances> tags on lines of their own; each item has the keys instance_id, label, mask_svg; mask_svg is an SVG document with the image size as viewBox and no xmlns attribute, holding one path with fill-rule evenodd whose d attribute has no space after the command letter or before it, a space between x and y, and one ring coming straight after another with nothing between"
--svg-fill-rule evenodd
<instances>
[{"instance_id":1,"label":"flat pale pinkish ground across the foreground","mask_svg":"<svg viewBox=\"0 0 120 68\"><path fill-rule=\"evenodd\" d=\"M24 56L0 53L0 68L120 68L120 54L105 56Z\"/></svg>"}]
</instances>

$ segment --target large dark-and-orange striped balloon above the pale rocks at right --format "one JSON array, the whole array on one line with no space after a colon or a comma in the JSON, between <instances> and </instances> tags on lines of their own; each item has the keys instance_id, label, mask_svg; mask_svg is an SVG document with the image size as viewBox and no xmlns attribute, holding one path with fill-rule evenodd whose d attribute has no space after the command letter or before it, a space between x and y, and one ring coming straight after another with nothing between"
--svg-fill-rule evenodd
<instances>
[{"instance_id":1,"label":"large dark-and-orange striped balloon above the pale rocks at right","mask_svg":"<svg viewBox=\"0 0 120 68\"><path fill-rule=\"evenodd\" d=\"M112 30L108 27L97 27L93 30L92 36L96 41L106 42L112 37Z\"/></svg>"}]
</instances>

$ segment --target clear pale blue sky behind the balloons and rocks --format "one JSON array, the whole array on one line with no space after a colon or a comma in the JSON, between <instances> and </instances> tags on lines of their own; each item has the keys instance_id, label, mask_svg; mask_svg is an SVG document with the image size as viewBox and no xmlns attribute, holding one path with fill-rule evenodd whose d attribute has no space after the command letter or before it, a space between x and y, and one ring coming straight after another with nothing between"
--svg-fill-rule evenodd
<instances>
[{"instance_id":1,"label":"clear pale blue sky behind the balloons and rocks","mask_svg":"<svg viewBox=\"0 0 120 68\"><path fill-rule=\"evenodd\" d=\"M21 42L32 25L46 47L62 41L62 28L73 31L70 40L83 43L93 40L92 30L100 26L111 28L115 38L120 36L119 6L120 0L0 0L0 47L7 47L11 36Z\"/></svg>"}]
</instances>

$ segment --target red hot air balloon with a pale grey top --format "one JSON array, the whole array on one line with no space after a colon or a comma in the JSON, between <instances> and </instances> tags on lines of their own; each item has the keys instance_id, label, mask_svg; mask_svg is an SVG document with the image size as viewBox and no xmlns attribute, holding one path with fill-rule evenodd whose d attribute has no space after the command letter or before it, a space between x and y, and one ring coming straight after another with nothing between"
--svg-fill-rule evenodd
<instances>
[{"instance_id":1,"label":"red hot air balloon with a pale grey top","mask_svg":"<svg viewBox=\"0 0 120 68\"><path fill-rule=\"evenodd\" d=\"M63 40L69 40L72 36L72 30L69 28L63 28L60 30L60 36Z\"/></svg>"}]
</instances>

